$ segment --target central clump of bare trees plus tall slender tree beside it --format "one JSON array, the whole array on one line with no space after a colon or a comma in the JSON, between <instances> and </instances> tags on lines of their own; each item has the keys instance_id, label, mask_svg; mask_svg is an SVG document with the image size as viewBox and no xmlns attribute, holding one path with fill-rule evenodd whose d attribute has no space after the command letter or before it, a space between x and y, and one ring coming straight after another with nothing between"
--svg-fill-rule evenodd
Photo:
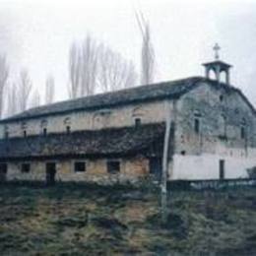
<instances>
[{"instance_id":1,"label":"central clump of bare trees plus tall slender tree beside it","mask_svg":"<svg viewBox=\"0 0 256 256\"><path fill-rule=\"evenodd\" d=\"M156 73L155 50L150 23L141 11L135 11L141 32L141 85L154 82ZM132 61L99 43L88 34L82 45L73 43L69 52L69 96L91 96L96 92L110 92L133 87L137 72Z\"/></svg>"}]
</instances>

